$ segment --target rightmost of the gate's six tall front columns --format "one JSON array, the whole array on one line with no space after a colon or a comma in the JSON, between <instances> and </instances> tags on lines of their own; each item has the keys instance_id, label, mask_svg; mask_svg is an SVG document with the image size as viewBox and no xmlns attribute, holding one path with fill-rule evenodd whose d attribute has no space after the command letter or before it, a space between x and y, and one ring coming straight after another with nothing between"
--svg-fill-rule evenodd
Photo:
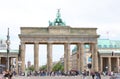
<instances>
[{"instance_id":1,"label":"rightmost of the gate's six tall front columns","mask_svg":"<svg viewBox=\"0 0 120 79\"><path fill-rule=\"evenodd\" d=\"M98 52L97 44L93 43L92 46L92 70L98 71Z\"/></svg>"}]
</instances>

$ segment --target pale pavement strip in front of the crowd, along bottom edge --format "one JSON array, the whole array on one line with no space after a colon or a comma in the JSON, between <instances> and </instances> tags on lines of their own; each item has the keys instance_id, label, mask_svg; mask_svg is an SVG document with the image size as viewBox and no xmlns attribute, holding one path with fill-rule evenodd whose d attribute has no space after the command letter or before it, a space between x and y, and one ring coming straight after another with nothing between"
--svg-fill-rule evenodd
<instances>
[{"instance_id":1,"label":"pale pavement strip in front of the crowd, along bottom edge","mask_svg":"<svg viewBox=\"0 0 120 79\"><path fill-rule=\"evenodd\" d=\"M101 79L110 79L109 76L101 76ZM82 76L15 76L12 79L82 79ZM87 76L86 79L92 79L91 76Z\"/></svg>"}]
</instances>

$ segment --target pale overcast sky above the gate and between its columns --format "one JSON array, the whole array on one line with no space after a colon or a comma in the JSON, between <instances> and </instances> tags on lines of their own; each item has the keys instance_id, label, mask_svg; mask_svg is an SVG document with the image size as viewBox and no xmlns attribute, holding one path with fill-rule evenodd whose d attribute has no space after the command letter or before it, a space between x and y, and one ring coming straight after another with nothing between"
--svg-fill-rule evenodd
<instances>
[{"instance_id":1,"label":"pale overcast sky above the gate and between its columns","mask_svg":"<svg viewBox=\"0 0 120 79\"><path fill-rule=\"evenodd\" d=\"M11 49L17 49L20 44L18 38L20 27L48 27L48 21L53 21L57 9L60 9L61 17L67 25L71 27L97 27L97 32L101 35L100 38L119 40L119 3L120 0L1 0L0 38L6 39L9 27ZM46 46L42 45L41 47L44 50L40 49L40 62L45 64ZM63 49L63 46L60 47ZM54 46L53 52L58 48L59 46ZM27 45L26 51L29 52L30 49L33 50L32 46ZM57 56L62 56L63 50L53 54L56 57L54 60L57 60ZM26 53L26 56L26 61L29 59L33 61L32 54Z\"/></svg>"}]
</instances>

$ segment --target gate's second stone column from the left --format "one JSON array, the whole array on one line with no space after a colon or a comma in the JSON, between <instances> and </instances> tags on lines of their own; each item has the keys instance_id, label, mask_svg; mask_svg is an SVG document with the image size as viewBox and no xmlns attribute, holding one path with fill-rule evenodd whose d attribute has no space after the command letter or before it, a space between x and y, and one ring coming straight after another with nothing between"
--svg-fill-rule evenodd
<instances>
[{"instance_id":1,"label":"gate's second stone column from the left","mask_svg":"<svg viewBox=\"0 0 120 79\"><path fill-rule=\"evenodd\" d=\"M34 43L34 68L39 71L39 43Z\"/></svg>"}]
</instances>

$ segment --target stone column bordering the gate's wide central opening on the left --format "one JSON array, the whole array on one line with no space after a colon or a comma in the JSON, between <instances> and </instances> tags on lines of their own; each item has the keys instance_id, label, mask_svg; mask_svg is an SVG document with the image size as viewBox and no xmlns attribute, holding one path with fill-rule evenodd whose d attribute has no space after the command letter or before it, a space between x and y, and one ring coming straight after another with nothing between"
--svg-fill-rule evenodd
<instances>
[{"instance_id":1,"label":"stone column bordering the gate's wide central opening on the left","mask_svg":"<svg viewBox=\"0 0 120 79\"><path fill-rule=\"evenodd\" d=\"M47 44L47 72L52 71L52 44Z\"/></svg>"}]
</instances>

